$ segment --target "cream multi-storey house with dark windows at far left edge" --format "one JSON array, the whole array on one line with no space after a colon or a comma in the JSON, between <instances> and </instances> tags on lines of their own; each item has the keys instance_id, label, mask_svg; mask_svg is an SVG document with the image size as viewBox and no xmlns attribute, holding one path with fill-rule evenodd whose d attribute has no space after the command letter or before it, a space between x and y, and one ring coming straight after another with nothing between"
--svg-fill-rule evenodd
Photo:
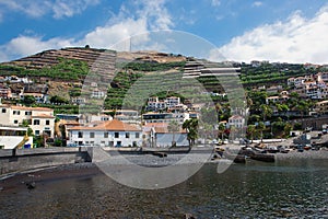
<instances>
[{"instance_id":1,"label":"cream multi-storey house with dark windows at far left edge","mask_svg":"<svg viewBox=\"0 0 328 219\"><path fill-rule=\"evenodd\" d=\"M26 107L0 105L0 123L2 125L20 126L26 120L34 135L47 134L54 137L54 110L46 107Z\"/></svg>"}]
</instances>

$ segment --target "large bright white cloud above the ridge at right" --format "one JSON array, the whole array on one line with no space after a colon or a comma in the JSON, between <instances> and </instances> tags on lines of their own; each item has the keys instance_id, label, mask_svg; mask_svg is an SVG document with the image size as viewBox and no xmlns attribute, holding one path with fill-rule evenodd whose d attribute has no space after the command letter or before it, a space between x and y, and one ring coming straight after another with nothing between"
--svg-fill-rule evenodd
<instances>
[{"instance_id":1,"label":"large bright white cloud above the ridge at right","mask_svg":"<svg viewBox=\"0 0 328 219\"><path fill-rule=\"evenodd\" d=\"M328 5L314 18L300 12L286 21L258 26L219 48L227 59L328 64Z\"/></svg>"}]
</instances>

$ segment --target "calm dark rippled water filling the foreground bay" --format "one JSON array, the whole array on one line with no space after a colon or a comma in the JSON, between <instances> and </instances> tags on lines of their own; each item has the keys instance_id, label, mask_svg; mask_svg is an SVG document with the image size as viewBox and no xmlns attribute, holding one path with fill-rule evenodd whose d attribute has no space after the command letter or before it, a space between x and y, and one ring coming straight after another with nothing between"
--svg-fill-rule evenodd
<instances>
[{"instance_id":1,"label":"calm dark rippled water filling the foreground bay","mask_svg":"<svg viewBox=\"0 0 328 219\"><path fill-rule=\"evenodd\" d=\"M328 161L215 164L174 187L140 191L103 174L0 192L0 218L328 218Z\"/></svg>"}]
</instances>

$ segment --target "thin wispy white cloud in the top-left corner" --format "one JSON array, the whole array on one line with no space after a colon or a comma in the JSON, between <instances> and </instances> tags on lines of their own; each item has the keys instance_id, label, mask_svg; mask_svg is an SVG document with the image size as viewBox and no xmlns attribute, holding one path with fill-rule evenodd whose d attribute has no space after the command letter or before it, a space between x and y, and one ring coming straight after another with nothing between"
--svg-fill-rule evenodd
<instances>
[{"instance_id":1,"label":"thin wispy white cloud in the top-left corner","mask_svg":"<svg viewBox=\"0 0 328 219\"><path fill-rule=\"evenodd\" d=\"M21 12L32 18L42 18L50 13L55 19L70 18L95 5L99 0L0 0L0 7L8 13Z\"/></svg>"}]
</instances>

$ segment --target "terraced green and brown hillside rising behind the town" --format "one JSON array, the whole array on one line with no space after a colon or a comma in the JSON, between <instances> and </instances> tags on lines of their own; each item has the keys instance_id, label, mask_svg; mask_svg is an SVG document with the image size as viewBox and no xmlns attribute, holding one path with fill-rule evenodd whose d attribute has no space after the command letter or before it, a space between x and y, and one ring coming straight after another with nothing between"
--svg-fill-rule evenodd
<instances>
[{"instance_id":1,"label":"terraced green and brown hillside rising behind the town","mask_svg":"<svg viewBox=\"0 0 328 219\"><path fill-rule=\"evenodd\" d=\"M89 77L89 81L92 81L90 77L95 77L97 90L107 96L104 102L105 108L119 108L131 88L133 95L156 94L165 97L171 93L177 94L174 91L178 90L188 99L195 100L203 92L224 93L222 81L230 83L230 78L233 81L238 77L238 83L244 88L263 84L270 87L285 84L290 77L312 74L319 70L321 69L293 64L215 64L159 51L128 53L89 47L50 49L0 64L0 77L25 77L26 80L32 80L35 87L46 85L49 99L61 96L65 104L77 104L74 100L81 95L85 77ZM1 80L2 87L8 87L8 83L3 83L4 79ZM202 84L202 88L198 88L198 83ZM17 88L15 90L24 89L24 84L10 87ZM218 102L222 96L214 95L212 99ZM133 107L140 100L136 103L133 100L129 101L125 104Z\"/></svg>"}]
</instances>

